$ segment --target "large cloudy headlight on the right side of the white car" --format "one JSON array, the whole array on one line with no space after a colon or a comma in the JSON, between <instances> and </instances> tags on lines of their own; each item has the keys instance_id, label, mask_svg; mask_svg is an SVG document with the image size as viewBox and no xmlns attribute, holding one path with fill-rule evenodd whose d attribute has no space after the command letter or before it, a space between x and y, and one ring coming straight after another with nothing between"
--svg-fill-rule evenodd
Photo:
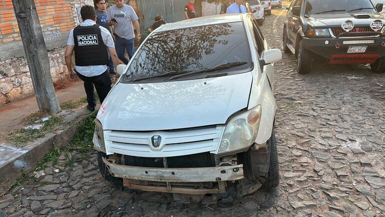
<instances>
[{"instance_id":1,"label":"large cloudy headlight on the right side of the white car","mask_svg":"<svg viewBox=\"0 0 385 217\"><path fill-rule=\"evenodd\" d=\"M232 117L224 128L218 154L240 150L252 145L259 128L260 105Z\"/></svg>"}]
</instances>

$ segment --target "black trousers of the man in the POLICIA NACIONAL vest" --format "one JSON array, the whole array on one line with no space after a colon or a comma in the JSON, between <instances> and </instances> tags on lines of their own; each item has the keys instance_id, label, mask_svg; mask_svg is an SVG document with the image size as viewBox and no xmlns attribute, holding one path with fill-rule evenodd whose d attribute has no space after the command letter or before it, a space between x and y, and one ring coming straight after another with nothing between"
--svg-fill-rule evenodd
<instances>
[{"instance_id":1,"label":"black trousers of the man in the POLICIA NACIONAL vest","mask_svg":"<svg viewBox=\"0 0 385 217\"><path fill-rule=\"evenodd\" d=\"M76 72L76 71L75 71ZM87 77L76 72L77 76L84 82L85 95L87 95L87 103L90 107L95 107L95 94L93 86L95 86L97 95L99 96L100 104L104 101L109 90L111 90L111 79L109 78L108 70L101 75Z\"/></svg>"}]
</instances>

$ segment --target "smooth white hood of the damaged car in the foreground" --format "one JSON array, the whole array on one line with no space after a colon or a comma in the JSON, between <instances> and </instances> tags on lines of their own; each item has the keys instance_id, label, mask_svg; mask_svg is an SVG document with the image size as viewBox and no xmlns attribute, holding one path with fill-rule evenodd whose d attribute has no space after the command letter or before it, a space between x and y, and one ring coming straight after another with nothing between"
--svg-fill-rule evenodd
<instances>
[{"instance_id":1,"label":"smooth white hood of the damaged car in the foreground","mask_svg":"<svg viewBox=\"0 0 385 217\"><path fill-rule=\"evenodd\" d=\"M251 72L209 79L114 86L97 114L103 130L153 131L224 124L246 108Z\"/></svg>"}]
</instances>

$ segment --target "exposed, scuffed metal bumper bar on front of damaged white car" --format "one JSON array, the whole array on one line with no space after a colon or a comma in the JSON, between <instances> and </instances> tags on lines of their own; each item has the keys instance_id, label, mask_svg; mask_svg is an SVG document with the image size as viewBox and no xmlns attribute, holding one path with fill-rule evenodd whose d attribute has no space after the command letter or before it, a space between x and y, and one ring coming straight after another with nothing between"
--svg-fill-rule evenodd
<instances>
[{"instance_id":1,"label":"exposed, scuffed metal bumper bar on front of damaged white car","mask_svg":"<svg viewBox=\"0 0 385 217\"><path fill-rule=\"evenodd\" d=\"M225 192L225 182L243 178L243 165L197 167L197 168L155 168L127 166L113 163L113 160L102 159L108 172L115 177L123 178L123 185L144 191L170 193L205 194ZM135 181L162 182L165 186L137 184ZM216 188L190 188L172 183L217 182ZM135 184L134 184L135 183Z\"/></svg>"}]
</instances>

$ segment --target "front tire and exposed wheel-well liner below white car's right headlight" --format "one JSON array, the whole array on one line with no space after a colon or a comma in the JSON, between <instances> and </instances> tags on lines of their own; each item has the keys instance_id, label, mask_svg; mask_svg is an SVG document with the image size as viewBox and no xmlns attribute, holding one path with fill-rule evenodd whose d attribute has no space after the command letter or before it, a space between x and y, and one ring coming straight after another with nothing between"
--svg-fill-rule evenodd
<instances>
[{"instance_id":1,"label":"front tire and exposed wheel-well liner below white car's right headlight","mask_svg":"<svg viewBox=\"0 0 385 217\"><path fill-rule=\"evenodd\" d=\"M250 182L263 183L267 188L279 184L278 156L275 144L274 129L267 141L267 146L258 150L248 149L238 155L239 163L243 164L244 178Z\"/></svg>"}]
</instances>

